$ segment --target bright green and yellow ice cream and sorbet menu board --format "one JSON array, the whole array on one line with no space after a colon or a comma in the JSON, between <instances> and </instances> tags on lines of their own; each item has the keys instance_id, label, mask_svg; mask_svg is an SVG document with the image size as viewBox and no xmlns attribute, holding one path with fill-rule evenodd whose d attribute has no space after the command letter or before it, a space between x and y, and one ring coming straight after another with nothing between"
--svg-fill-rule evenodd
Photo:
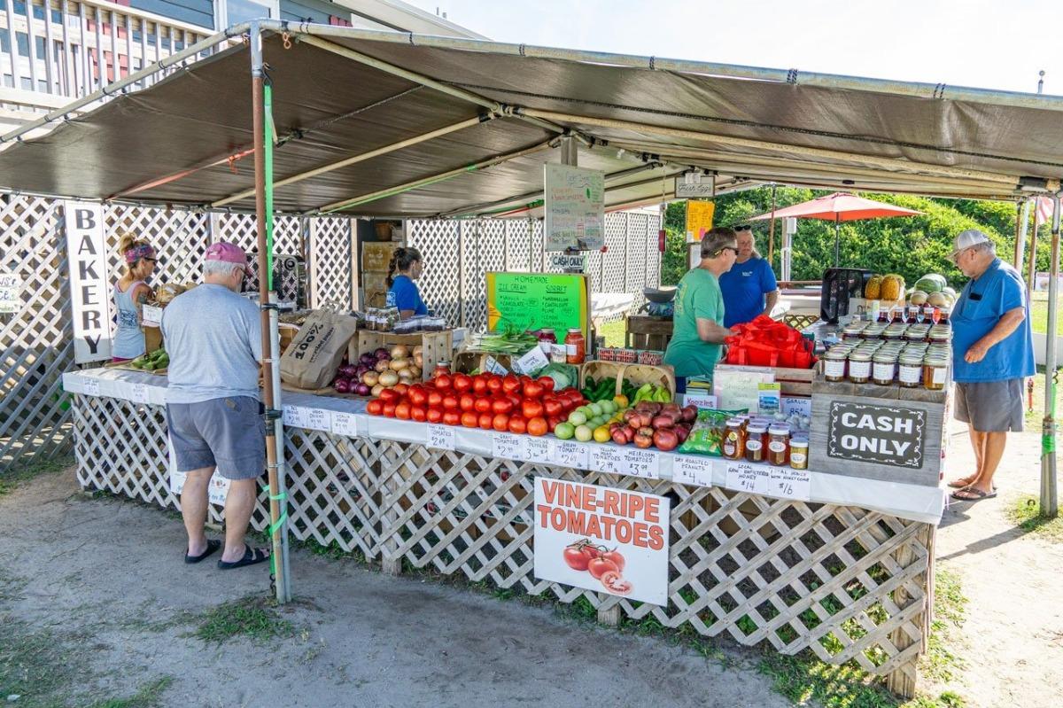
<instances>
[{"instance_id":1,"label":"bright green and yellow ice cream and sorbet menu board","mask_svg":"<svg viewBox=\"0 0 1063 708\"><path fill-rule=\"evenodd\" d=\"M487 273L487 326L551 328L557 341L579 327L590 336L590 282L581 273Z\"/></svg>"}]
</instances>

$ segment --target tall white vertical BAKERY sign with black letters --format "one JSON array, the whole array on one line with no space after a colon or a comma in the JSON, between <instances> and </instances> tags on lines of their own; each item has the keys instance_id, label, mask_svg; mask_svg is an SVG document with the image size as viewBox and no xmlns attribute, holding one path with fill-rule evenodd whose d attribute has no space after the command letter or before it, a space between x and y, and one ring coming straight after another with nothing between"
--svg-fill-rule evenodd
<instances>
[{"instance_id":1,"label":"tall white vertical BAKERY sign with black letters","mask_svg":"<svg viewBox=\"0 0 1063 708\"><path fill-rule=\"evenodd\" d=\"M70 310L73 314L73 360L111 358L111 292L103 208L99 204L63 202L67 260L70 264Z\"/></svg>"}]
</instances>

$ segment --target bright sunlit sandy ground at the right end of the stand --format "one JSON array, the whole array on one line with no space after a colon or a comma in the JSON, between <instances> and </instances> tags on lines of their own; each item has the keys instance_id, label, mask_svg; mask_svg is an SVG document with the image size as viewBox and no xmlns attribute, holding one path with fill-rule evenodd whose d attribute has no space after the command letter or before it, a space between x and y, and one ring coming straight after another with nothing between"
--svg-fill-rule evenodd
<instances>
[{"instance_id":1,"label":"bright sunlit sandy ground at the right end of the stand","mask_svg":"<svg viewBox=\"0 0 1063 708\"><path fill-rule=\"evenodd\" d=\"M948 454L954 476L974 468L962 428ZM938 562L960 575L969 599L960 692L971 706L1058 708L1063 706L1063 543L1024 534L1007 515L1016 496L1040 494L1040 433L1010 436L996 484L995 499L954 503L938 532Z\"/></svg>"}]
</instances>

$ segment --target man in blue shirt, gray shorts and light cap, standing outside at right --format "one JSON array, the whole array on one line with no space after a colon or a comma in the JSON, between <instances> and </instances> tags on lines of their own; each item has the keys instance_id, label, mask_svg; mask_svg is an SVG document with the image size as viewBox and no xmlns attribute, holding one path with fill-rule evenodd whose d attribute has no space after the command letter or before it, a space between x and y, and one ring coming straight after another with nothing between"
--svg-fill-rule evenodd
<instances>
[{"instance_id":1,"label":"man in blue shirt, gray shorts and light cap, standing outside at right","mask_svg":"<svg viewBox=\"0 0 1063 708\"><path fill-rule=\"evenodd\" d=\"M967 423L976 469L954 479L952 499L996 495L993 474L1008 432L1023 429L1023 383L1034 374L1029 303L1018 272L996 257L989 236L968 229L956 237L951 259L971 279L952 307L956 418Z\"/></svg>"}]
</instances>

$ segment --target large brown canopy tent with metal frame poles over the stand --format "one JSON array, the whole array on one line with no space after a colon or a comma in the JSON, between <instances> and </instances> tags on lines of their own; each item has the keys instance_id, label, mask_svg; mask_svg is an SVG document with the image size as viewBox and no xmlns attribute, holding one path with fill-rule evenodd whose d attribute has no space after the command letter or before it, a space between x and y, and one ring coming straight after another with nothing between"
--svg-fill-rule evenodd
<instances>
[{"instance_id":1,"label":"large brown canopy tent with metal frame poles over the stand","mask_svg":"<svg viewBox=\"0 0 1063 708\"><path fill-rule=\"evenodd\" d=\"M243 32L249 41L231 46ZM133 90L179 64L166 80ZM75 114L101 99L109 100ZM3 136L0 188L254 209L259 271L269 273L272 209L520 214L537 208L543 163L559 162L573 140L580 165L606 172L609 208L671 198L670 178L689 169L712 173L718 193L775 182L972 199L1054 195L1061 112L1063 97L260 20ZM241 162L249 156L253 171ZM1058 196L1053 203L1051 332ZM269 302L267 279L260 287ZM275 353L272 315L264 349ZM1054 513L1054 338L1048 342L1042 502ZM266 360L265 402L274 417L277 547L275 361L275 354ZM279 568L282 599L286 577Z\"/></svg>"}]
</instances>

